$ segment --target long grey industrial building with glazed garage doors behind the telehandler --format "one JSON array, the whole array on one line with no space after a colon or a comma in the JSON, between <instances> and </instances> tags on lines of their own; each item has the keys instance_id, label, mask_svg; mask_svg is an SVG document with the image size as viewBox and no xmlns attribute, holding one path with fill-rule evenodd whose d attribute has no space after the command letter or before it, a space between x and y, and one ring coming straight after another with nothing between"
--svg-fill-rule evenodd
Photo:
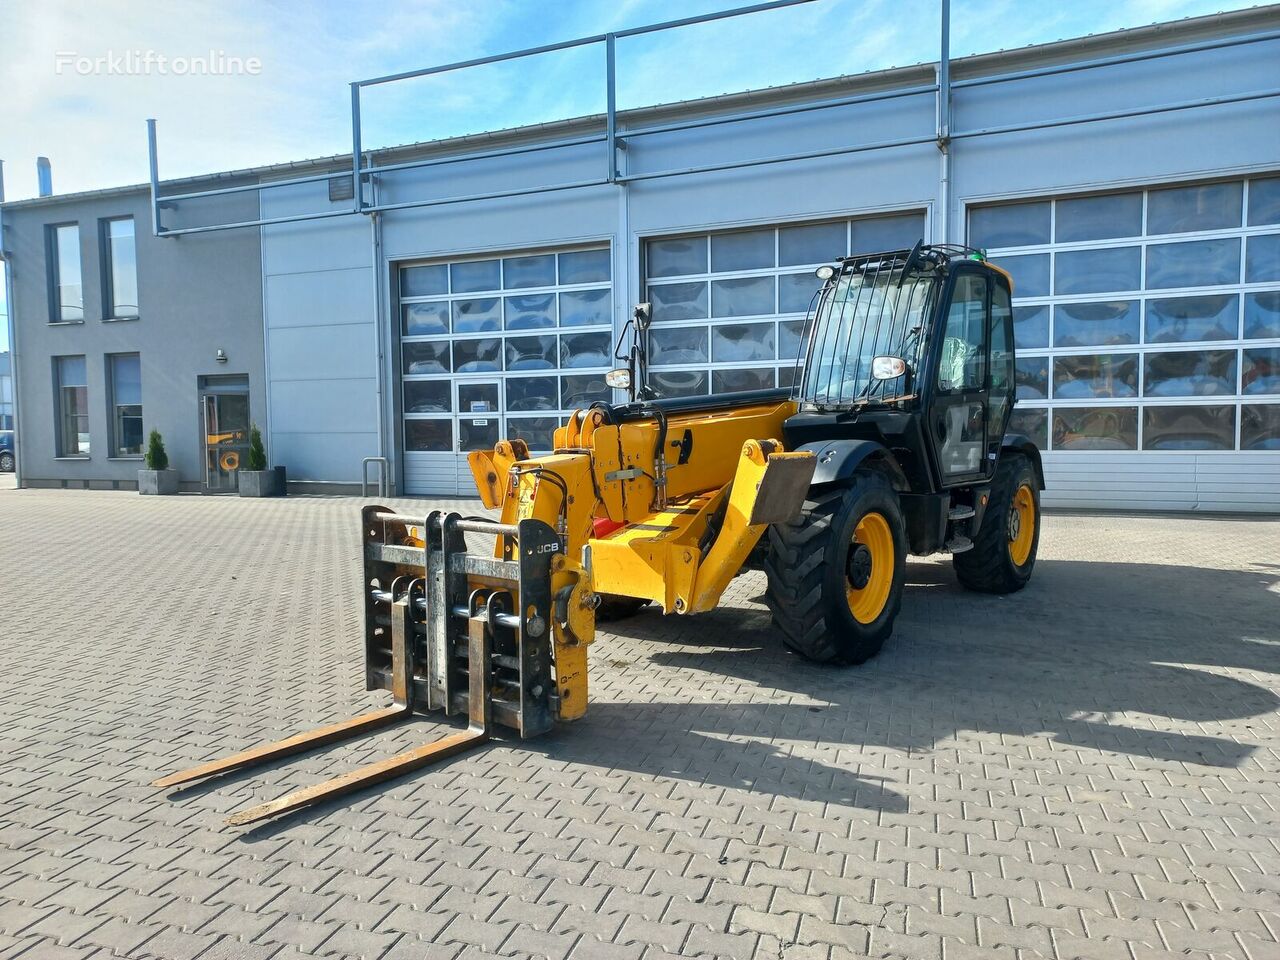
<instances>
[{"instance_id":1,"label":"long grey industrial building with glazed garage doors behind the telehandler","mask_svg":"<svg viewBox=\"0 0 1280 960\"><path fill-rule=\"evenodd\" d=\"M1277 64L1270 5L4 204L20 483L131 486L159 428L234 489L257 422L294 490L468 495L611 397L634 303L664 394L786 385L814 269L924 238L1014 276L1046 504L1274 512Z\"/></svg>"}]
</instances>

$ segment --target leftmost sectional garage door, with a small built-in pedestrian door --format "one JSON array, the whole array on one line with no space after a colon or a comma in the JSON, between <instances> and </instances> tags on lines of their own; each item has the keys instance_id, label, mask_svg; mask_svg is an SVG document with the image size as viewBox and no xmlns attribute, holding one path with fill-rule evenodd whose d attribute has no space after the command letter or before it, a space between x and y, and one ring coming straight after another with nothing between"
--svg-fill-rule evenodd
<instances>
[{"instance_id":1,"label":"leftmost sectional garage door, with a small built-in pedestrian door","mask_svg":"<svg viewBox=\"0 0 1280 960\"><path fill-rule=\"evenodd\" d=\"M403 264L404 488L474 497L466 453L518 436L552 447L566 411L607 398L608 247Z\"/></svg>"}]
</instances>

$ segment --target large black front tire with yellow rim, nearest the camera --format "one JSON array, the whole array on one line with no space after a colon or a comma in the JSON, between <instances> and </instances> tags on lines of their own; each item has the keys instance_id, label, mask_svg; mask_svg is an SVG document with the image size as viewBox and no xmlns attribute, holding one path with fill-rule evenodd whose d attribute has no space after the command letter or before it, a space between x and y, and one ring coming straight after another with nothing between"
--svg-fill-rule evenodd
<instances>
[{"instance_id":1,"label":"large black front tire with yellow rim, nearest the camera","mask_svg":"<svg viewBox=\"0 0 1280 960\"><path fill-rule=\"evenodd\" d=\"M863 589L879 590L883 603L865 622L854 616L851 603L861 590L850 594L850 577L860 576L855 564L854 534L868 515L878 540L892 541L888 566L883 548L863 556ZM887 529L887 530L886 530ZM902 604L906 570L906 531L897 494L883 475L872 471L854 474L850 484L810 492L800 516L787 524L773 524L768 531L764 572L769 586L765 603L782 641L801 657L820 663L864 663L879 653L893 632L893 618ZM887 547L887 543L883 543ZM869 562L868 562L869 558ZM888 573L887 594L873 586L872 577ZM867 598L870 599L870 598ZM876 604L873 604L874 607Z\"/></svg>"}]
</instances>

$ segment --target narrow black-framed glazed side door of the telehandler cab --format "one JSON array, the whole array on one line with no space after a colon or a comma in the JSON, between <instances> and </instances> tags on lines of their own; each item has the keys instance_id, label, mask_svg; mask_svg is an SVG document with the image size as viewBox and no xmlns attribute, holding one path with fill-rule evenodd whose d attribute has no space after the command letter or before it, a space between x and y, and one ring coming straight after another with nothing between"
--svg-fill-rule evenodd
<instances>
[{"instance_id":1,"label":"narrow black-framed glazed side door of the telehandler cab","mask_svg":"<svg viewBox=\"0 0 1280 960\"><path fill-rule=\"evenodd\" d=\"M951 278L950 292L934 348L933 398L928 411L942 486L984 480L995 463L987 456L991 412L991 284L987 273L965 269L961 264Z\"/></svg>"}]
</instances>

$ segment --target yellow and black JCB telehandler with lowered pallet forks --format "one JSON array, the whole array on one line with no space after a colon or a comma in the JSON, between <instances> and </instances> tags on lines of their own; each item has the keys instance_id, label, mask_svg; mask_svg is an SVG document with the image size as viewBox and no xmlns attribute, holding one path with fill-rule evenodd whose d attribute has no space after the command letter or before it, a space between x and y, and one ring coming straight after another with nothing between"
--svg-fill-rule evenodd
<instances>
[{"instance_id":1,"label":"yellow and black JCB telehandler with lowered pallet forks","mask_svg":"<svg viewBox=\"0 0 1280 960\"><path fill-rule=\"evenodd\" d=\"M982 255L918 243L819 269L796 387L663 399L639 315L623 404L593 403L530 456L468 456L499 520L365 507L365 667L393 705L156 781L173 786L408 717L466 730L243 810L248 823L483 742L586 713L596 617L645 603L712 609L760 566L783 641L861 663L893 628L909 553L948 552L960 581L1009 593L1039 539L1039 453L1006 435L1010 280ZM489 556L467 536L492 536Z\"/></svg>"}]
</instances>

